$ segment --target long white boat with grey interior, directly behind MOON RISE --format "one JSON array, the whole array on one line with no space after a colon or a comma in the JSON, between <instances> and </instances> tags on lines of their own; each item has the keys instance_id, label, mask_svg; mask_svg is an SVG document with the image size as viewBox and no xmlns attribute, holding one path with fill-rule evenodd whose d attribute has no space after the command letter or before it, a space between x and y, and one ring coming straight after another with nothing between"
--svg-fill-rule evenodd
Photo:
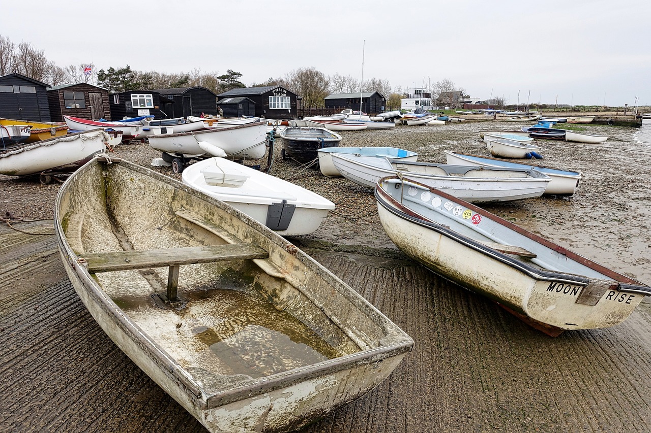
<instances>
[{"instance_id":1,"label":"long white boat with grey interior, directly behind MOON RISE","mask_svg":"<svg viewBox=\"0 0 651 433\"><path fill-rule=\"evenodd\" d=\"M399 174L475 203L540 197L551 180L532 168L413 163L337 153L331 157L341 176L357 185L374 188L382 177Z\"/></svg>"}]
</instances>

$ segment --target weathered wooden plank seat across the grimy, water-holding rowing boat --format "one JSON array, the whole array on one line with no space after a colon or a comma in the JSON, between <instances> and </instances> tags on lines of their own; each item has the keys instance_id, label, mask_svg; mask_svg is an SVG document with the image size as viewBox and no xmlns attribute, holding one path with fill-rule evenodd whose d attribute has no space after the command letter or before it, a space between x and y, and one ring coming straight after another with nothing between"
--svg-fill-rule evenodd
<instances>
[{"instance_id":1,"label":"weathered wooden plank seat across the grimy, water-holding rowing boat","mask_svg":"<svg viewBox=\"0 0 651 433\"><path fill-rule=\"evenodd\" d=\"M82 254L90 273L192 265L233 259L260 259L268 252L255 244L225 244Z\"/></svg>"}]
</instances>

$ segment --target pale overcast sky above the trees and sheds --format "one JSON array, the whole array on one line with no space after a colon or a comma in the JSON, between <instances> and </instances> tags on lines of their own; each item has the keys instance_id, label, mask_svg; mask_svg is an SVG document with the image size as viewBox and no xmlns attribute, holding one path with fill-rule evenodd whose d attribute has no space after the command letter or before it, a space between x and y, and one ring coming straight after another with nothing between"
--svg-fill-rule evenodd
<instances>
[{"instance_id":1,"label":"pale overcast sky above the trees and sheds","mask_svg":"<svg viewBox=\"0 0 651 433\"><path fill-rule=\"evenodd\" d=\"M5 2L0 34L62 67L231 69L252 85L298 68L360 79L363 60L364 79L394 88L448 79L508 103L651 105L648 0L44 3Z\"/></svg>"}]
</instances>

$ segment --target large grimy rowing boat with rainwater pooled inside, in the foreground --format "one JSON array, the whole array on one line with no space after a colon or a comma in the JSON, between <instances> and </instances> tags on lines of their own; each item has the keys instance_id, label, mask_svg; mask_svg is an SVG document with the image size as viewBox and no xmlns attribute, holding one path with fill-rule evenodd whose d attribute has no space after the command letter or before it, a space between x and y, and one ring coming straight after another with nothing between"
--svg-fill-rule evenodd
<instances>
[{"instance_id":1,"label":"large grimy rowing boat with rainwater pooled inside, in the foreground","mask_svg":"<svg viewBox=\"0 0 651 433\"><path fill-rule=\"evenodd\" d=\"M55 231L92 317L211 432L301 428L413 346L294 244L148 168L90 161L59 190Z\"/></svg>"}]
</instances>

